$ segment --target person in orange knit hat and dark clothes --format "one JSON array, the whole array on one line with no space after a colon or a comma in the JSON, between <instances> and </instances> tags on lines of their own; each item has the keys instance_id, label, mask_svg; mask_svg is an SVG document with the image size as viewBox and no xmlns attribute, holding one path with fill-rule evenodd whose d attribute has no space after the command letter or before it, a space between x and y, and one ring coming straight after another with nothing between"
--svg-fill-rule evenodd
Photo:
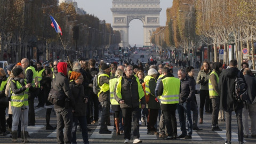
<instances>
[{"instance_id":1,"label":"person in orange knit hat and dark clothes","mask_svg":"<svg viewBox=\"0 0 256 144\"><path fill-rule=\"evenodd\" d=\"M83 86L83 75L76 71L72 71L69 79L73 80L70 82L69 87L74 96L76 106L73 110L73 129L72 129L72 143L76 143L76 130L77 125L82 129L83 143L89 143L88 132L87 132L87 120L86 120L86 103L88 97L85 96Z\"/></svg>"}]
</instances>

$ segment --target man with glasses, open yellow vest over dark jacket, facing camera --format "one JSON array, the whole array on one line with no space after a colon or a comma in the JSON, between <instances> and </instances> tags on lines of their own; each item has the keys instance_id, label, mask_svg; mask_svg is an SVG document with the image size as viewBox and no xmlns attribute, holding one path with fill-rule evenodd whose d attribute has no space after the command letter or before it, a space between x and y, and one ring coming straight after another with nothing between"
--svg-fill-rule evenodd
<instances>
[{"instance_id":1,"label":"man with glasses, open yellow vest over dark jacket, facing camera","mask_svg":"<svg viewBox=\"0 0 256 144\"><path fill-rule=\"evenodd\" d=\"M124 143L131 139L131 128L133 119L133 143L140 143L139 118L141 109L145 108L145 93L139 78L133 75L131 65L124 68L124 73L117 79L114 91L115 99L120 103L123 114ZM141 108L141 109L140 109Z\"/></svg>"}]
</instances>

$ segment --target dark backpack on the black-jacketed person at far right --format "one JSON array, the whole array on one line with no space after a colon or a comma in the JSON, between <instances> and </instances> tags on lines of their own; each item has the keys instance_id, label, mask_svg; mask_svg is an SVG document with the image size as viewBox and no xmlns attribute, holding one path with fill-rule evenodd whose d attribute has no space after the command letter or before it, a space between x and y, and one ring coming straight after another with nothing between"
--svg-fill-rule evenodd
<instances>
[{"instance_id":1,"label":"dark backpack on the black-jacketed person at far right","mask_svg":"<svg viewBox=\"0 0 256 144\"><path fill-rule=\"evenodd\" d=\"M239 75L239 76L238 76ZM243 101L246 104L250 104L252 103L249 95L247 93L247 88L246 88L246 84L243 80L243 78L240 77L241 72L239 72L236 76L235 79L235 93L234 93L234 97L236 98L236 100L238 102Z\"/></svg>"}]
</instances>

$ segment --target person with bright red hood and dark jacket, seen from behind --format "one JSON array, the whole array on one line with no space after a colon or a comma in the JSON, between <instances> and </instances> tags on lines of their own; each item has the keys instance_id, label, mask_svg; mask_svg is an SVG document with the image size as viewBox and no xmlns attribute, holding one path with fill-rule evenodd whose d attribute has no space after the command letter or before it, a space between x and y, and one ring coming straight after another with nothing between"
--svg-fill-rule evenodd
<instances>
[{"instance_id":1,"label":"person with bright red hood and dark jacket, seen from behind","mask_svg":"<svg viewBox=\"0 0 256 144\"><path fill-rule=\"evenodd\" d=\"M55 78L52 80L52 89L61 89L65 93L65 105L59 106L54 105L54 109L57 117L57 142L58 143L71 143L72 135L72 109L75 109L75 100L72 91L69 87L69 81L67 78L67 73L69 68L66 62L59 62L58 73L55 74ZM63 129L65 133L63 134Z\"/></svg>"}]
</instances>

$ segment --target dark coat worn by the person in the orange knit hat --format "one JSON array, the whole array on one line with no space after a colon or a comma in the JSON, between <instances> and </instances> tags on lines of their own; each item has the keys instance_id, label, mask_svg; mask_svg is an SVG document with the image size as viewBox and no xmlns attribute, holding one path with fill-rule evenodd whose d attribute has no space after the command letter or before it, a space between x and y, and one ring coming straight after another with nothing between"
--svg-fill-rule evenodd
<instances>
[{"instance_id":1,"label":"dark coat worn by the person in the orange knit hat","mask_svg":"<svg viewBox=\"0 0 256 144\"><path fill-rule=\"evenodd\" d=\"M84 86L82 84L76 85L74 81L69 84L70 90L72 91L73 97L76 102L74 116L86 116L86 103ZM88 97L87 97L88 98Z\"/></svg>"}]
</instances>

